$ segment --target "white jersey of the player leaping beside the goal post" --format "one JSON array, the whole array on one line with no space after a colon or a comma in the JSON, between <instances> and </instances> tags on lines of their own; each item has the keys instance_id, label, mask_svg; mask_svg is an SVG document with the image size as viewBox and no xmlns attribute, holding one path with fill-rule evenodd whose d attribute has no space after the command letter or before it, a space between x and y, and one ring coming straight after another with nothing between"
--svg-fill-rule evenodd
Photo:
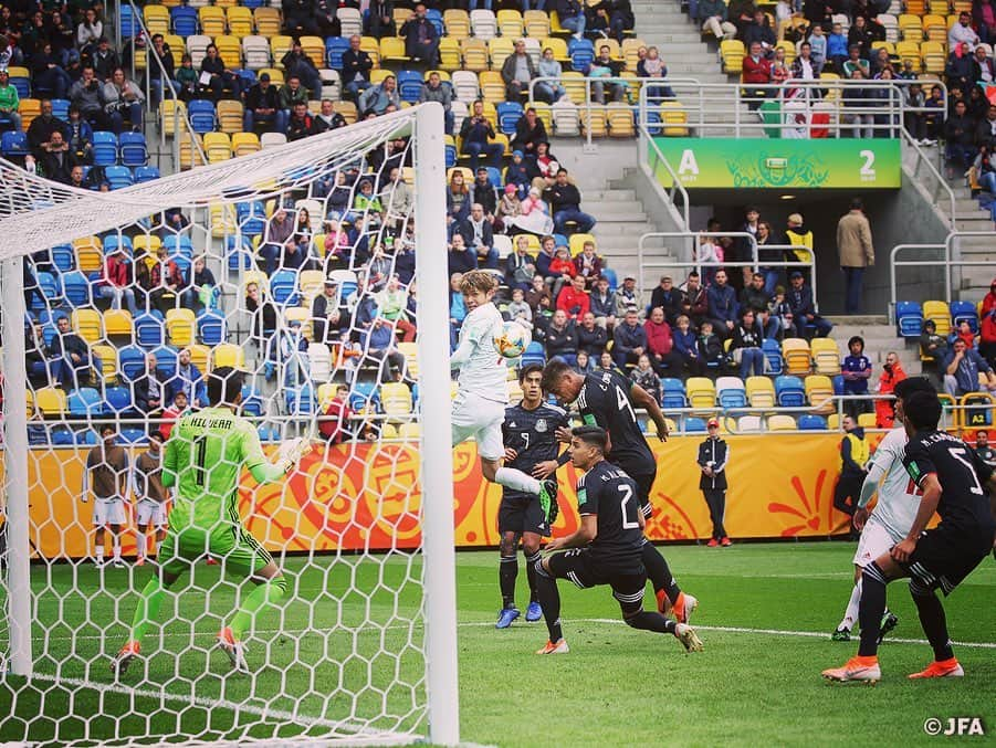
<instances>
[{"instance_id":1,"label":"white jersey of the player leaping beside the goal post","mask_svg":"<svg viewBox=\"0 0 996 748\"><path fill-rule=\"evenodd\" d=\"M509 402L509 367L494 347L494 338L501 335L504 324L502 313L491 302L463 319L460 345L452 358L453 366L460 367L457 383L461 392Z\"/></svg>"}]
</instances>

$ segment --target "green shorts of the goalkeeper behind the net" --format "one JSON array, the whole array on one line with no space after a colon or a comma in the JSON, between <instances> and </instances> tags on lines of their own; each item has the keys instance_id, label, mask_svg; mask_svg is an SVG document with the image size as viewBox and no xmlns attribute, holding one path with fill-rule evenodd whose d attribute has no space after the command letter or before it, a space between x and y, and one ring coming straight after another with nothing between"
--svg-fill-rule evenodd
<instances>
[{"instance_id":1,"label":"green shorts of the goalkeeper behind the net","mask_svg":"<svg viewBox=\"0 0 996 748\"><path fill-rule=\"evenodd\" d=\"M242 577L251 577L273 561L270 552L242 525L228 525L211 530L170 528L159 547L159 567L168 575L179 576L206 556L221 563L226 571Z\"/></svg>"}]
</instances>

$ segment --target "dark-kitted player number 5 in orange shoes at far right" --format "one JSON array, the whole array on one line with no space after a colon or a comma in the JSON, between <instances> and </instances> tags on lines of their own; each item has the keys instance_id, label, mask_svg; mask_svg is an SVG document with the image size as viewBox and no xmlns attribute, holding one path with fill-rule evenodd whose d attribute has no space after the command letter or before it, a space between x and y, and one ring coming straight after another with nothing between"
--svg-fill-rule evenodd
<instances>
[{"instance_id":1,"label":"dark-kitted player number 5 in orange shoes at far right","mask_svg":"<svg viewBox=\"0 0 996 748\"><path fill-rule=\"evenodd\" d=\"M951 647L944 608L935 590L950 594L993 549L996 519L985 485L996 489L993 467L962 440L937 431L941 402L936 393L903 398L909 443L903 465L922 492L920 508L906 537L862 570L861 644L842 667L824 671L830 681L879 681L879 622L885 610L885 586L910 578L920 623L934 650L934 662L911 678L960 677L965 674ZM941 524L926 530L934 512Z\"/></svg>"}]
</instances>

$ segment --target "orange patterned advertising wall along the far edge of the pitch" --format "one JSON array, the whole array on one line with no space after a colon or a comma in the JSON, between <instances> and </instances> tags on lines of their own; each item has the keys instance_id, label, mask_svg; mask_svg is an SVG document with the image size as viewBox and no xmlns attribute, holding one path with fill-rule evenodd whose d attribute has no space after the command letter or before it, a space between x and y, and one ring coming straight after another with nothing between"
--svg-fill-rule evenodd
<instances>
[{"instance_id":1,"label":"orange patterned advertising wall along the far edge of the pitch","mask_svg":"<svg viewBox=\"0 0 996 748\"><path fill-rule=\"evenodd\" d=\"M840 470L839 434L727 436L726 528L736 538L828 537L845 531L846 517L832 508ZM707 538L709 512L695 465L701 438L652 440L658 457L654 540ZM137 452L136 452L137 454ZM35 556L82 558L91 547L92 504L80 501L86 450L32 450L31 541ZM405 443L350 444L316 449L286 484L256 486L243 475L239 496L247 527L273 551L329 551L413 548L420 542L420 496L409 495L418 474L418 451ZM560 471L557 535L576 529L578 515L569 465ZM454 526L458 547L499 542L501 489L484 481L476 447L453 452ZM134 554L130 533L124 552Z\"/></svg>"}]
</instances>

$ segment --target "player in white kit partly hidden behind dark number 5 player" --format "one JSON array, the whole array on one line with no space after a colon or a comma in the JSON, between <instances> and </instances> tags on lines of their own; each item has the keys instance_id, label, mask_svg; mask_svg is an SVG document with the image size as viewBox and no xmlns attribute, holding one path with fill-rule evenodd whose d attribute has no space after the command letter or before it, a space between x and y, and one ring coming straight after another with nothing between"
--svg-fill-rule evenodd
<instances>
[{"instance_id":1,"label":"player in white kit partly hidden behind dark number 5 player","mask_svg":"<svg viewBox=\"0 0 996 748\"><path fill-rule=\"evenodd\" d=\"M923 377L910 377L899 382L893 391L897 423L902 424L903 398L910 397L913 392L933 391L933 386ZM861 530L858 550L855 551L855 587L851 590L851 599L848 601L843 619L831 636L835 642L850 641L851 630L858 622L861 569L906 537L916 516L916 509L920 506L920 491L913 485L903 466L902 457L905 445L906 432L901 425L885 434L885 438L879 443L879 449L876 450L868 476L861 486L861 496L855 512L855 527ZM884 481L882 481L883 476ZM879 485L880 481L881 485ZM868 506L876 491L878 491L879 501L869 515L864 507ZM880 624L880 644L885 634L892 631L898 623L899 619L887 608Z\"/></svg>"}]
</instances>

